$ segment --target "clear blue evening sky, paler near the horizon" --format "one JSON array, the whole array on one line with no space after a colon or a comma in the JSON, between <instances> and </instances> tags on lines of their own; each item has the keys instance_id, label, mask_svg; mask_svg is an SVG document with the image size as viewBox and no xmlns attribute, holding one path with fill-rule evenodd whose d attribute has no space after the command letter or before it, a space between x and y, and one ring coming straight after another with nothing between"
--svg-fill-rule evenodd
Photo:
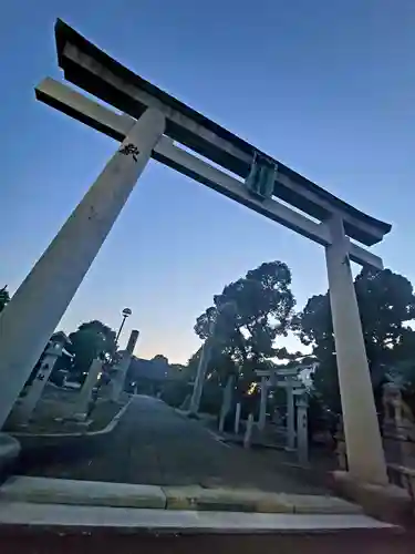
<instances>
[{"instance_id":1,"label":"clear blue evening sky, paler near the horizon","mask_svg":"<svg viewBox=\"0 0 415 554\"><path fill-rule=\"evenodd\" d=\"M413 0L14 0L0 19L1 286L15 290L116 148L34 100L42 78L62 79L56 17L392 223L374 250L415 281ZM138 356L186 361L212 295L272 259L291 267L299 307L326 290L321 247L152 162L60 327L115 328L128 306L123 340L141 329Z\"/></svg>"}]
</instances>

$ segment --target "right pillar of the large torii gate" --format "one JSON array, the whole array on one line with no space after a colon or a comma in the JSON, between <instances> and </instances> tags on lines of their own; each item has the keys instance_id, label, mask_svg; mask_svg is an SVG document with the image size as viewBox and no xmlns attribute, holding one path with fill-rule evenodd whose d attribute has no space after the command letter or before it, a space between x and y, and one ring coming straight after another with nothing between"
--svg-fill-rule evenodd
<instances>
[{"instance_id":1,"label":"right pillar of the large torii gate","mask_svg":"<svg viewBox=\"0 0 415 554\"><path fill-rule=\"evenodd\" d=\"M332 244L325 248L325 258L349 473L356 481L387 485L385 456L350 267L350 242L340 216L333 216L328 223Z\"/></svg>"}]
</instances>

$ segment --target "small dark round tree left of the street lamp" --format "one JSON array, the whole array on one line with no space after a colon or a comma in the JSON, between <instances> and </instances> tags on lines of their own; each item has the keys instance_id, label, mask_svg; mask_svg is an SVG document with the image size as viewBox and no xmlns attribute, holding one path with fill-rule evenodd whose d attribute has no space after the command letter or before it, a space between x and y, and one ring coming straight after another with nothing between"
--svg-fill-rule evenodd
<instances>
[{"instance_id":1,"label":"small dark round tree left of the street lamp","mask_svg":"<svg viewBox=\"0 0 415 554\"><path fill-rule=\"evenodd\" d=\"M66 349L74 356L68 368L72 376L82 380L92 360L98 356L104 362L111 361L116 352L115 337L113 329L97 320L82 324L75 332L71 332L71 343Z\"/></svg>"}]
</instances>

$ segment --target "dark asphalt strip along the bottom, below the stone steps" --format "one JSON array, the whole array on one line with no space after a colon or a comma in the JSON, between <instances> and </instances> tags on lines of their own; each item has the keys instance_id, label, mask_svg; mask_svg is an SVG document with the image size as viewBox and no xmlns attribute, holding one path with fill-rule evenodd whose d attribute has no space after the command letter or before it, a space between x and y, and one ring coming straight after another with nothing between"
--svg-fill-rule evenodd
<instances>
[{"instance_id":1,"label":"dark asphalt strip along the bottom, below the stone steps","mask_svg":"<svg viewBox=\"0 0 415 554\"><path fill-rule=\"evenodd\" d=\"M2 554L412 554L414 535L367 531L325 534L165 534L64 533L29 529L0 530Z\"/></svg>"}]
</instances>

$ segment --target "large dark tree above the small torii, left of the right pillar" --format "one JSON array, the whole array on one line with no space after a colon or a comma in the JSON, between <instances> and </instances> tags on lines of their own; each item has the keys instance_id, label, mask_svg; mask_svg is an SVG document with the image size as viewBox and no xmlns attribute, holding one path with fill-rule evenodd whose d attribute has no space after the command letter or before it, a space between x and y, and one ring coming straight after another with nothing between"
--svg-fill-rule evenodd
<instances>
[{"instance_id":1,"label":"large dark tree above the small torii, left of the right pillar","mask_svg":"<svg viewBox=\"0 0 415 554\"><path fill-rule=\"evenodd\" d=\"M222 380L226 375L237 372L249 382L255 378L255 369L280 355L274 341L278 336L287 336L295 305L290 285L288 266L270 261L248 271L214 297L214 306L196 320L195 332L201 339L210 336L224 306L235 306L235 312L226 322L226 335L210 360L208 373L216 372Z\"/></svg>"}]
</instances>

